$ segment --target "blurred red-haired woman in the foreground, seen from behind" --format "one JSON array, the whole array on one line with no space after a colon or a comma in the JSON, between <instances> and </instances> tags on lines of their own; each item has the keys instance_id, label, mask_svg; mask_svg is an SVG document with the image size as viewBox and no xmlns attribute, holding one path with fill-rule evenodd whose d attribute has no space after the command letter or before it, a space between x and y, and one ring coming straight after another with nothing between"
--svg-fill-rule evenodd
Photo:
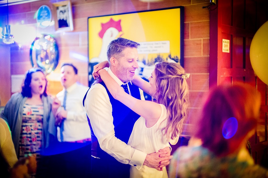
<instances>
[{"instance_id":1,"label":"blurred red-haired woman in the foreground, seen from behind","mask_svg":"<svg viewBox=\"0 0 268 178\"><path fill-rule=\"evenodd\" d=\"M193 121L199 146L182 146L171 160L169 177L268 177L246 148L255 133L261 97L248 84L214 88Z\"/></svg>"}]
</instances>

